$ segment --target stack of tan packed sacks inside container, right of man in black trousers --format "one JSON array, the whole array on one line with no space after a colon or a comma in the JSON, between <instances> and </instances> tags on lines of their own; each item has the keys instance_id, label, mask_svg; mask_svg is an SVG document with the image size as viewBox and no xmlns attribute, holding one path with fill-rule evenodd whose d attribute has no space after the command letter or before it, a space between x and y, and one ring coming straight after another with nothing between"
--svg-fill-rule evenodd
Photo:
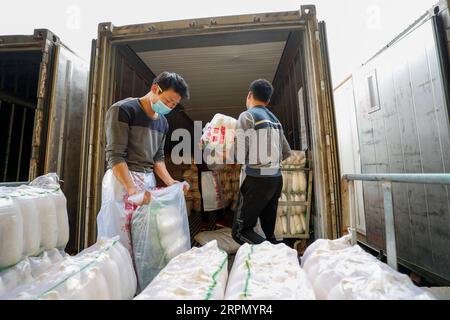
<instances>
[{"instance_id":1,"label":"stack of tan packed sacks inside container, right of man in black trousers","mask_svg":"<svg viewBox=\"0 0 450 320\"><path fill-rule=\"evenodd\" d=\"M307 217L305 205L307 201L307 176L303 170L306 155L303 151L292 151L292 156L282 162L283 190L279 199L275 235L278 239L283 236L295 236L307 231ZM288 204L296 202L296 204Z\"/></svg>"}]
</instances>

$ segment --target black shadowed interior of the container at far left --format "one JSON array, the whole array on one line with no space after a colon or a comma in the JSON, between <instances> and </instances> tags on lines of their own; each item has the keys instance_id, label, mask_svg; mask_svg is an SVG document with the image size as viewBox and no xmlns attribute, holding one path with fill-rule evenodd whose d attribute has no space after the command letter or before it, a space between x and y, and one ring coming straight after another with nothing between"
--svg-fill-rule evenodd
<instances>
[{"instance_id":1,"label":"black shadowed interior of the container at far left","mask_svg":"<svg viewBox=\"0 0 450 320\"><path fill-rule=\"evenodd\" d=\"M28 181L40 51L0 52L0 182Z\"/></svg>"}]
</instances>

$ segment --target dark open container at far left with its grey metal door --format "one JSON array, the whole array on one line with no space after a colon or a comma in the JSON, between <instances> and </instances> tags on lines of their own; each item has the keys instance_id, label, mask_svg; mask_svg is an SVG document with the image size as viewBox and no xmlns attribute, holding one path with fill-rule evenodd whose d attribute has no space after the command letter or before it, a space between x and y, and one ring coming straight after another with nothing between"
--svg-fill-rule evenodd
<instances>
[{"instance_id":1,"label":"dark open container at far left with its grey metal door","mask_svg":"<svg viewBox=\"0 0 450 320\"><path fill-rule=\"evenodd\" d=\"M80 145L89 65L49 30L0 36L0 183L56 172L78 248Z\"/></svg>"}]
</instances>

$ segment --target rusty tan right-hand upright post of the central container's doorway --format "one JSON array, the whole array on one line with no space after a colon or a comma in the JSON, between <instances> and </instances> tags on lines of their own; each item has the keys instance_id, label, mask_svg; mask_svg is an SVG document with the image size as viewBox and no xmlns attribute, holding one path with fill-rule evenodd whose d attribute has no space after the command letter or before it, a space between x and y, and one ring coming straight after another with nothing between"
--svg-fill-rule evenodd
<instances>
[{"instance_id":1,"label":"rusty tan right-hand upright post of the central container's doorway","mask_svg":"<svg viewBox=\"0 0 450 320\"><path fill-rule=\"evenodd\" d=\"M308 17L305 36L306 72L312 157L315 181L316 238L336 239L342 235L340 172L334 101L328 55L326 27L317 22L314 6L302 6L302 17ZM309 45L308 45L309 44Z\"/></svg>"}]
</instances>

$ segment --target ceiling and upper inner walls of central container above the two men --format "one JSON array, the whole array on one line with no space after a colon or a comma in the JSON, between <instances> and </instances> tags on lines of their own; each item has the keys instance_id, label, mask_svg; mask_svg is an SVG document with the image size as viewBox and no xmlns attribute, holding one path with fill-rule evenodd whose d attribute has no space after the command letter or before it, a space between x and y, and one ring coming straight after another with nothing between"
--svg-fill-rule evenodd
<instances>
[{"instance_id":1,"label":"ceiling and upper inner walls of central container above the two men","mask_svg":"<svg viewBox=\"0 0 450 320\"><path fill-rule=\"evenodd\" d=\"M264 78L274 84L271 108L283 123L291 147L300 149L302 138L306 145L307 121L301 119L301 115L306 116L306 97L299 96L305 78L301 31L241 31L140 40L116 48L114 101L142 96L155 75L177 72L188 82L191 98L178 108L183 116L169 116L169 123L179 128L202 121L204 126L216 113L239 117L245 110L250 83Z\"/></svg>"}]
</instances>

